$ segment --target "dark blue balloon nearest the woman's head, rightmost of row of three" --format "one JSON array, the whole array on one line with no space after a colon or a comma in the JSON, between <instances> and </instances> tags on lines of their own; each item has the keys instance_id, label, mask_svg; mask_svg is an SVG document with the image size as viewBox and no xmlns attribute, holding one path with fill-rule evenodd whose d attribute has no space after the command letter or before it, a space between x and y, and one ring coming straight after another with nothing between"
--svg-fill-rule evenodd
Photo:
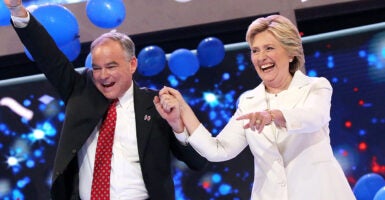
<instances>
[{"instance_id":1,"label":"dark blue balloon nearest the woman's head, rightmost of row of three","mask_svg":"<svg viewBox=\"0 0 385 200\"><path fill-rule=\"evenodd\" d=\"M225 47L221 40L208 37L202 40L197 48L199 63L204 67L213 67L225 57Z\"/></svg>"}]
</instances>

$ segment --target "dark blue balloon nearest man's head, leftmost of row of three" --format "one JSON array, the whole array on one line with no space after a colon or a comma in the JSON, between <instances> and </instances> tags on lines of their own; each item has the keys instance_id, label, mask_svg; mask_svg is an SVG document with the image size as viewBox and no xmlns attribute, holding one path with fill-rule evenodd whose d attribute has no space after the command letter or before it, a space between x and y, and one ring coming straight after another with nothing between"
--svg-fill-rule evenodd
<instances>
[{"instance_id":1,"label":"dark blue balloon nearest man's head, leftmost of row of three","mask_svg":"<svg viewBox=\"0 0 385 200\"><path fill-rule=\"evenodd\" d=\"M144 76L154 76L166 66L166 55L158 46L145 47L138 55L138 71Z\"/></svg>"}]
</instances>

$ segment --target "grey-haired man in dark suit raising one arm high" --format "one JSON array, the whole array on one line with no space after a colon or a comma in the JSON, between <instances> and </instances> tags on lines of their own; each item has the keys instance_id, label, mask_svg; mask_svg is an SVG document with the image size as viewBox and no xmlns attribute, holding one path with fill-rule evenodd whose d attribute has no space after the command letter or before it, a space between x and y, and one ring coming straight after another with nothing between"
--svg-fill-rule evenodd
<instances>
[{"instance_id":1,"label":"grey-haired man in dark suit raising one arm high","mask_svg":"<svg viewBox=\"0 0 385 200\"><path fill-rule=\"evenodd\" d=\"M119 103L110 198L175 199L170 152L194 170L202 169L207 160L178 141L178 133L184 134L180 111L172 110L165 121L153 103L157 91L139 88L132 80L137 59L131 39L116 32L103 34L91 44L93 70L78 73L20 0L4 2L22 43L66 104L52 199L91 198L100 124L113 99Z\"/></svg>"}]
</instances>

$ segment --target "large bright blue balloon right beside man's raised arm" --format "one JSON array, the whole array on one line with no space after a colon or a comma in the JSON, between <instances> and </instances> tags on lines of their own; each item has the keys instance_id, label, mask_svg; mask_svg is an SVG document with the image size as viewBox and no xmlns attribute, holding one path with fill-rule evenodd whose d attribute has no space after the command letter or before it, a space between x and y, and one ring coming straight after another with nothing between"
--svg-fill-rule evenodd
<instances>
[{"instance_id":1,"label":"large bright blue balloon right beside man's raised arm","mask_svg":"<svg viewBox=\"0 0 385 200\"><path fill-rule=\"evenodd\" d=\"M58 45L67 44L79 37L79 24L75 15L62 5L38 6L32 14Z\"/></svg>"}]
</instances>

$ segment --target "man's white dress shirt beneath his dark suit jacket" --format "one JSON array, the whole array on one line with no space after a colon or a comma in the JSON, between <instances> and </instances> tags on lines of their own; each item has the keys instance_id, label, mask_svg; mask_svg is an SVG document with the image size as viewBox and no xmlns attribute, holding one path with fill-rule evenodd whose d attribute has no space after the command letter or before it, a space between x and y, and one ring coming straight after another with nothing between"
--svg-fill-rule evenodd
<instances>
[{"instance_id":1,"label":"man's white dress shirt beneath his dark suit jacket","mask_svg":"<svg viewBox=\"0 0 385 200\"><path fill-rule=\"evenodd\" d=\"M119 98L117 120L111 158L111 199L147 199L139 163L136 137L133 86ZM79 193L81 199L90 199L96 144L100 124L95 128L78 153Z\"/></svg>"}]
</instances>

